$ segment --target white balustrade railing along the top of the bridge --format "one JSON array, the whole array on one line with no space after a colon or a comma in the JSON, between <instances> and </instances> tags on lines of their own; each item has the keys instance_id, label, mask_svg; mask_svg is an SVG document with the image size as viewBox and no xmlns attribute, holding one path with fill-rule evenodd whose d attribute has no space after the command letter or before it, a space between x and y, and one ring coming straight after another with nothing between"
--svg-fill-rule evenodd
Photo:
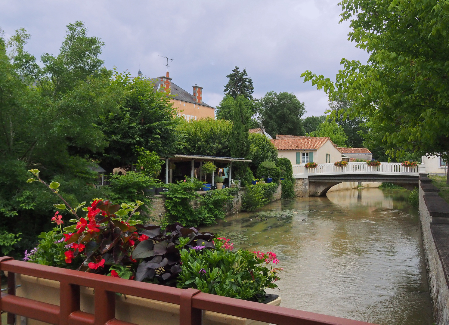
<instances>
[{"instance_id":1,"label":"white balustrade railing along the top of the bridge","mask_svg":"<svg viewBox=\"0 0 449 325\"><path fill-rule=\"evenodd\" d=\"M338 174L338 173L358 173L358 172L418 174L418 173L425 173L426 166L418 165L414 167L404 167L402 166L402 163L380 163L380 166L368 166L367 163L348 163L348 165L344 167L335 166L333 163L327 163L327 164L318 164L316 168L305 168L304 165L293 166L294 175Z\"/></svg>"}]
</instances>

